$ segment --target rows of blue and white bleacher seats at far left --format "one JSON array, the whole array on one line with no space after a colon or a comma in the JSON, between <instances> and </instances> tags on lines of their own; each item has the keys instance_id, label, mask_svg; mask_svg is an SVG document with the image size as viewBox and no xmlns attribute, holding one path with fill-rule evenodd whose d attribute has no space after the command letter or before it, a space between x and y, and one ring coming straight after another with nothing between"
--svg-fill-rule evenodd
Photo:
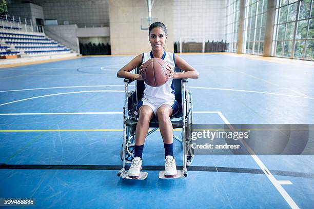
<instances>
[{"instance_id":1,"label":"rows of blue and white bleacher seats at far left","mask_svg":"<svg viewBox=\"0 0 314 209\"><path fill-rule=\"evenodd\" d=\"M0 58L8 56L41 56L71 53L72 50L57 43L44 33L4 30L0 27Z\"/></svg>"}]
</instances>

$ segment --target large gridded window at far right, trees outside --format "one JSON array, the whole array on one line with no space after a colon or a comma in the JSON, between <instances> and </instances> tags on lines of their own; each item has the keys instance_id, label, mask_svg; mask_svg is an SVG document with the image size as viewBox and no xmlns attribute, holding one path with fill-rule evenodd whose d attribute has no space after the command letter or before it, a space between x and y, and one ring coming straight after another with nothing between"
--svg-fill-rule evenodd
<instances>
[{"instance_id":1,"label":"large gridded window at far right, trees outside","mask_svg":"<svg viewBox=\"0 0 314 209\"><path fill-rule=\"evenodd\" d=\"M314 0L278 0L273 56L313 60Z\"/></svg>"}]
</instances>

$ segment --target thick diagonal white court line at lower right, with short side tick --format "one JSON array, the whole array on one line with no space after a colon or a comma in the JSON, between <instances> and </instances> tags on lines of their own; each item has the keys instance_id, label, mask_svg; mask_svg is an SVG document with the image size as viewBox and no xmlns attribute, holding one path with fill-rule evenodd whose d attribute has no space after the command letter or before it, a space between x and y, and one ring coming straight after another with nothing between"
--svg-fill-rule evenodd
<instances>
[{"instance_id":1,"label":"thick diagonal white court line at lower right, with short side tick","mask_svg":"<svg viewBox=\"0 0 314 209\"><path fill-rule=\"evenodd\" d=\"M226 123L230 124L230 122L227 120L227 118L221 113L218 113L221 119ZM228 126L230 130L235 131L234 128L230 125ZM291 181L278 181L266 168L264 163L260 160L260 158L252 151L252 149L247 145L245 141L242 139L239 139L239 141L244 145L246 150L250 153L251 157L254 159L254 161L260 166L264 174L267 176L267 178L270 180L270 182L276 187L278 192L281 194L281 196L286 200L286 202L290 205L291 208L299 208L299 206L296 204L295 201L290 197L290 195L285 191L285 189L281 186L282 184L292 184Z\"/></svg>"}]
</instances>

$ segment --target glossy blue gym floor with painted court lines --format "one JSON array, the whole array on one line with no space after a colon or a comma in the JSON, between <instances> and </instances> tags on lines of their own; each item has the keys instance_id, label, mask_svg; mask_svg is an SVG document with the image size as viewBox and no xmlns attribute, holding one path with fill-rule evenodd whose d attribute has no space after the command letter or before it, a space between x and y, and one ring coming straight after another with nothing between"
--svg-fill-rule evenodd
<instances>
[{"instance_id":1,"label":"glossy blue gym floor with painted court lines","mask_svg":"<svg viewBox=\"0 0 314 209\"><path fill-rule=\"evenodd\" d=\"M314 123L310 65L180 56L200 73L187 83L194 123ZM159 179L164 148L155 132L143 153L147 179L117 177L124 83L116 72L132 58L0 69L0 198L34 198L36 208L313 207L313 155L197 155L187 178ZM180 142L174 149L182 166Z\"/></svg>"}]
</instances>

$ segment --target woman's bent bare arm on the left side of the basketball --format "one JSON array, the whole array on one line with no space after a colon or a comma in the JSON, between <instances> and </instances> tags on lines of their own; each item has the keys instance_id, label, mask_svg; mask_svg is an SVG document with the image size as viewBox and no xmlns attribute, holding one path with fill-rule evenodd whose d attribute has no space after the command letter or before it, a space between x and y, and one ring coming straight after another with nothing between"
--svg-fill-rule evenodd
<instances>
[{"instance_id":1,"label":"woman's bent bare arm on the left side of the basketball","mask_svg":"<svg viewBox=\"0 0 314 209\"><path fill-rule=\"evenodd\" d=\"M142 76L140 74L130 73L131 70L141 65L143 54L139 54L135 58L133 58L128 64L126 64L123 68L121 68L117 73L116 77L118 78L129 78L132 80L142 80Z\"/></svg>"}]
</instances>

